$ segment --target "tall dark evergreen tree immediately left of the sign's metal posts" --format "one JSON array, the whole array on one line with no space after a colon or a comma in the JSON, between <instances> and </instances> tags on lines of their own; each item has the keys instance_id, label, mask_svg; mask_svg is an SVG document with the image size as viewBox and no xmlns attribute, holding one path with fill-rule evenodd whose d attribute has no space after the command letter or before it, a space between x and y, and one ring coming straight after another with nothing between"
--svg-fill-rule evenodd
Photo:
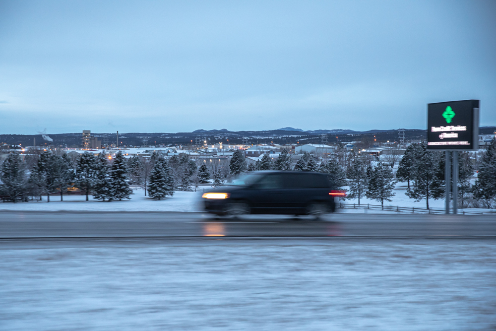
<instances>
[{"instance_id":1,"label":"tall dark evergreen tree immediately left of the sign's metal posts","mask_svg":"<svg viewBox=\"0 0 496 331\"><path fill-rule=\"evenodd\" d=\"M444 172L440 165L443 163L442 153L427 150L427 144L419 144L422 149L418 162L413 170L413 189L407 190L406 195L415 201L426 200L429 209L429 199L439 199L444 196Z\"/></svg>"}]
</instances>

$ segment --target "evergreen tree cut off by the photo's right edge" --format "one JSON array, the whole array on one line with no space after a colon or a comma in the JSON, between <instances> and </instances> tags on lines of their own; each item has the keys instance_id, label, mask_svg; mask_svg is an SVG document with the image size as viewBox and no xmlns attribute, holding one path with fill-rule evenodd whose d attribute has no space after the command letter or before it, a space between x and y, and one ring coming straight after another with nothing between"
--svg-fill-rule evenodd
<instances>
[{"instance_id":1,"label":"evergreen tree cut off by the photo's right edge","mask_svg":"<svg viewBox=\"0 0 496 331\"><path fill-rule=\"evenodd\" d=\"M496 206L496 138L491 140L480 158L480 167L473 186L473 194L487 208Z\"/></svg>"}]
</instances>

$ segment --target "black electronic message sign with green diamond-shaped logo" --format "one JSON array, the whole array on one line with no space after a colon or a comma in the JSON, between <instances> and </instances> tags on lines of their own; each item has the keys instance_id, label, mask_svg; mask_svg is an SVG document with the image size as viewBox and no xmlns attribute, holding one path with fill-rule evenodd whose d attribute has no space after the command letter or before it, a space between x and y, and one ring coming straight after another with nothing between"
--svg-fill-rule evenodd
<instances>
[{"instance_id":1,"label":"black electronic message sign with green diamond-shaped logo","mask_svg":"<svg viewBox=\"0 0 496 331\"><path fill-rule=\"evenodd\" d=\"M479 100L428 104L427 149L477 150Z\"/></svg>"}]
</instances>

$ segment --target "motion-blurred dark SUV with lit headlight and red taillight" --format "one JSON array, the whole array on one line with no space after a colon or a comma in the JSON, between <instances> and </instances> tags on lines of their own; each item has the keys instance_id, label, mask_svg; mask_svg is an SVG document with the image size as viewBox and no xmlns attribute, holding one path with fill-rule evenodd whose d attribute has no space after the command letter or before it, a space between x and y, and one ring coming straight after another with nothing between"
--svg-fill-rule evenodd
<instances>
[{"instance_id":1,"label":"motion-blurred dark SUV with lit headlight and red taillight","mask_svg":"<svg viewBox=\"0 0 496 331\"><path fill-rule=\"evenodd\" d=\"M334 196L324 173L257 171L233 185L204 193L205 209L217 215L288 214L315 215L334 212Z\"/></svg>"}]
</instances>

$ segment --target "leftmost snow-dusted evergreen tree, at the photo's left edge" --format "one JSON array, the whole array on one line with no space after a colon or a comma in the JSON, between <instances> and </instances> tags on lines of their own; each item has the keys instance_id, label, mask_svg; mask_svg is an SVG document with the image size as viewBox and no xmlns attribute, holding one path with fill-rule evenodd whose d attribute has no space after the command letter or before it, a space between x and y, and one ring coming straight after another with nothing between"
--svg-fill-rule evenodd
<instances>
[{"instance_id":1,"label":"leftmost snow-dusted evergreen tree, at the photo's left edge","mask_svg":"<svg viewBox=\"0 0 496 331\"><path fill-rule=\"evenodd\" d=\"M14 202L25 199L27 181L22 159L18 153L10 153L0 166L0 192Z\"/></svg>"}]
</instances>

